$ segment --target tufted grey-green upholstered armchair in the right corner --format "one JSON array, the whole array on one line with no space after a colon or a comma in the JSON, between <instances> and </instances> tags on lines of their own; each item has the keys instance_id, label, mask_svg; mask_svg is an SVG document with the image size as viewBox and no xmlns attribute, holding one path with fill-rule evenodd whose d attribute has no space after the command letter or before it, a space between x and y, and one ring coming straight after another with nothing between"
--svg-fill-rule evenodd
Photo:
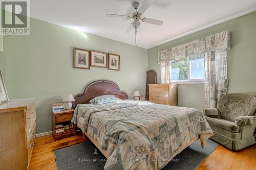
<instances>
[{"instance_id":1,"label":"tufted grey-green upholstered armchair in the right corner","mask_svg":"<svg viewBox=\"0 0 256 170\"><path fill-rule=\"evenodd\" d=\"M255 96L227 94L219 100L217 108L205 108L203 112L214 132L211 139L234 151L255 143Z\"/></svg>"}]
</instances>

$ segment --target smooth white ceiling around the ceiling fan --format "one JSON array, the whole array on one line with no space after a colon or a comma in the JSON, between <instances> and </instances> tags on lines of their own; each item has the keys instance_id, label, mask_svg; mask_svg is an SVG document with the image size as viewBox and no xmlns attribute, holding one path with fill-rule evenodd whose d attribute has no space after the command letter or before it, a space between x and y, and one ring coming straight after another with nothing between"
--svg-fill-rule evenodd
<instances>
[{"instance_id":1,"label":"smooth white ceiling around the ceiling fan","mask_svg":"<svg viewBox=\"0 0 256 170\"><path fill-rule=\"evenodd\" d=\"M126 34L132 19L106 17L130 15L131 0L31 0L33 18L83 32L135 44L134 32ZM136 2L142 3L143 0ZM255 0L155 0L142 17L163 20L162 26L142 23L137 45L151 48L191 32L256 10Z\"/></svg>"}]
</instances>

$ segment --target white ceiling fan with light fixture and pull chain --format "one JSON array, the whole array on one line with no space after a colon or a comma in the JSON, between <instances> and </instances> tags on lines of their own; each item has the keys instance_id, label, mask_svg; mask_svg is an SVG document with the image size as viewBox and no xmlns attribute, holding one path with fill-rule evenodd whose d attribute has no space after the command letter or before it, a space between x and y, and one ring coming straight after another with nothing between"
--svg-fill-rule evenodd
<instances>
[{"instance_id":1,"label":"white ceiling fan with light fixture and pull chain","mask_svg":"<svg viewBox=\"0 0 256 170\"><path fill-rule=\"evenodd\" d=\"M125 19L134 19L134 21L131 23L129 28L126 30L125 33L131 33L132 29L135 29L135 45L137 46L137 32L140 30L140 21L151 23L157 26L163 25L162 20L152 19L152 18L143 18L141 15L147 10L148 7L151 6L151 4L155 0L144 0L143 3L140 5L138 2L133 3L133 8L135 9L135 12L132 14L132 16L128 15L118 15L118 14L106 14L106 16L109 17L118 17L118 18L125 18Z\"/></svg>"}]
</instances>

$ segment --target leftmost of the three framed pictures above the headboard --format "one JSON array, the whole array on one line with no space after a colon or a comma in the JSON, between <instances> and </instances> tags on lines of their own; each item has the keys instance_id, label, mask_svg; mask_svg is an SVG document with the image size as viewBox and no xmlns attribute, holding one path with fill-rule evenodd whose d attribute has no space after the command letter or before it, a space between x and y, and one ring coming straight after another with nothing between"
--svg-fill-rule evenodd
<instances>
[{"instance_id":1,"label":"leftmost of the three framed pictures above the headboard","mask_svg":"<svg viewBox=\"0 0 256 170\"><path fill-rule=\"evenodd\" d=\"M74 48L74 68L90 69L90 51Z\"/></svg>"}]
</instances>

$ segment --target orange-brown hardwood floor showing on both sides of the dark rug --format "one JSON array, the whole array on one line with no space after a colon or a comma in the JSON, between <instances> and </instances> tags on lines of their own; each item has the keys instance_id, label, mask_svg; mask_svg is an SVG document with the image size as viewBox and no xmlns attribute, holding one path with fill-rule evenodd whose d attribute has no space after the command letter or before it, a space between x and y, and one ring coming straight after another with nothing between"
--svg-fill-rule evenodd
<instances>
[{"instance_id":1,"label":"orange-brown hardwood floor showing on both sides of the dark rug","mask_svg":"<svg viewBox=\"0 0 256 170\"><path fill-rule=\"evenodd\" d=\"M70 145L81 143L86 140L87 139L82 138L82 135L71 136L56 141L53 140L52 135L36 138L30 169L56 169L54 150L66 148ZM256 144L238 152L232 152L220 145L197 167L197 170L255 169L255 160Z\"/></svg>"}]
</instances>

